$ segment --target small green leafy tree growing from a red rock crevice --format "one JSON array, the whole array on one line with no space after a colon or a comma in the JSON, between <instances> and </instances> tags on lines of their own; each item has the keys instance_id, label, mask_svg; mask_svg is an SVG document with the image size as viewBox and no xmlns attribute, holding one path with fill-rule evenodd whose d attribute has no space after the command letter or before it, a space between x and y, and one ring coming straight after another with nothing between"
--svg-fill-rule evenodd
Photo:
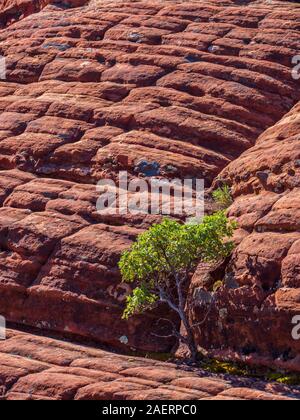
<instances>
[{"instance_id":1,"label":"small green leafy tree growing from a red rock crevice","mask_svg":"<svg viewBox=\"0 0 300 420\"><path fill-rule=\"evenodd\" d=\"M165 219L142 233L119 262L123 281L137 284L127 298L123 318L153 309L159 302L167 303L186 330L183 336L173 325L172 334L188 346L195 359L197 346L185 309L187 282L200 261L213 262L230 255L234 245L229 238L234 229L234 222L221 211L206 216L201 224Z\"/></svg>"}]
</instances>

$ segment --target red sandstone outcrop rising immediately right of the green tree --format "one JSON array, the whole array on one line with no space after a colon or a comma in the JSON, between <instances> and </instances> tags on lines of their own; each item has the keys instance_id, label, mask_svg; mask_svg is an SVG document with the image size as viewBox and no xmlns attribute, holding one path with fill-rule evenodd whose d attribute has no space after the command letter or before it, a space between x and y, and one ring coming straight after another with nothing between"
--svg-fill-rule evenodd
<instances>
[{"instance_id":1,"label":"red sandstone outcrop rising immediately right of the green tree","mask_svg":"<svg viewBox=\"0 0 300 420\"><path fill-rule=\"evenodd\" d=\"M296 106L219 176L233 187L229 215L245 234L237 232L240 243L223 273L224 286L215 295L202 333L197 332L199 342L214 355L296 371L300 347L292 337L292 320L300 310L298 118ZM192 282L194 296L205 287L201 275ZM193 319L205 310L196 300Z\"/></svg>"}]
</instances>

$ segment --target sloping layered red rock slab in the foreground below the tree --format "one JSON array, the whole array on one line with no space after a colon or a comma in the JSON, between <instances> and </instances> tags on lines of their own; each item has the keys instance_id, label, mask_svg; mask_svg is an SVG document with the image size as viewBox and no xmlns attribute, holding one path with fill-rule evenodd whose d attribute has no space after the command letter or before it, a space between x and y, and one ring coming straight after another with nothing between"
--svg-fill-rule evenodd
<instances>
[{"instance_id":1,"label":"sloping layered red rock slab in the foreground below the tree","mask_svg":"<svg viewBox=\"0 0 300 420\"><path fill-rule=\"evenodd\" d=\"M275 383L121 356L8 330L0 342L2 400L299 400Z\"/></svg>"}]
</instances>

